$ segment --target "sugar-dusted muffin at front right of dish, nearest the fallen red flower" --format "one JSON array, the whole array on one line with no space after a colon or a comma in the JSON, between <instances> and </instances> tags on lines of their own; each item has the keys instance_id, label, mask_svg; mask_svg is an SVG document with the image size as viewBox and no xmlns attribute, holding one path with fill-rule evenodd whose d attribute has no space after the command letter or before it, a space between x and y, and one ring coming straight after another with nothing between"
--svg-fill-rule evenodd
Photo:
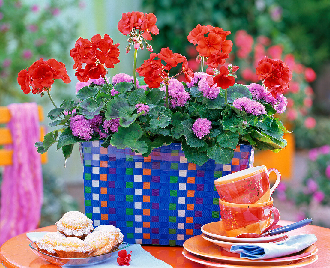
<instances>
[{"instance_id":1,"label":"sugar-dusted muffin at front right of dish, nearest the fallen red flower","mask_svg":"<svg viewBox=\"0 0 330 268\"><path fill-rule=\"evenodd\" d=\"M90 233L84 242L94 250L94 255L110 252L117 245L114 235L102 231Z\"/></svg>"}]
</instances>

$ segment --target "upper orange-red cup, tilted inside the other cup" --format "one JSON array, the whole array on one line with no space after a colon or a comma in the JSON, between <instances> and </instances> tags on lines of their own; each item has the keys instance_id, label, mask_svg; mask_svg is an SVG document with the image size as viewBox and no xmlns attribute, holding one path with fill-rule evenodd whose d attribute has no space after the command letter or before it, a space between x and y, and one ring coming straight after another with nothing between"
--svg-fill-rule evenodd
<instances>
[{"instance_id":1,"label":"upper orange-red cup, tilted inside the other cup","mask_svg":"<svg viewBox=\"0 0 330 268\"><path fill-rule=\"evenodd\" d=\"M276 182L272 188L269 173L276 173ZM218 178L214 181L220 199L230 203L261 203L270 200L271 195L281 181L281 174L275 168L255 166Z\"/></svg>"}]
</instances>

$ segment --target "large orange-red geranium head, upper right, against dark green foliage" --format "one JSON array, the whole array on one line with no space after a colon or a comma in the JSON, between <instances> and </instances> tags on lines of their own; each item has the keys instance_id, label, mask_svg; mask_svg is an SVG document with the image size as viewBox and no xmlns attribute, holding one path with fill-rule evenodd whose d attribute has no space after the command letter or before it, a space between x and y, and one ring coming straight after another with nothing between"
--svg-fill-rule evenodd
<instances>
[{"instance_id":1,"label":"large orange-red geranium head, upper right, against dark green foliage","mask_svg":"<svg viewBox=\"0 0 330 268\"><path fill-rule=\"evenodd\" d=\"M226 62L233 48L233 42L226 40L230 33L219 27L198 24L191 30L187 39L190 43L197 45L196 50L199 57L206 57L206 64L209 67L217 68L219 64L222 65ZM208 35L205 36L206 34Z\"/></svg>"}]
</instances>

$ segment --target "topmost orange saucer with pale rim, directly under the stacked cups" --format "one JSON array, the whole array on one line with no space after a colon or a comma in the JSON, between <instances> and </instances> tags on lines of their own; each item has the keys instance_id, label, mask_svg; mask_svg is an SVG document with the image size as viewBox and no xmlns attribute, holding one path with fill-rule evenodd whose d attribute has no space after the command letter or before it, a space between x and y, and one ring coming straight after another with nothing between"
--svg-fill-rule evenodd
<instances>
[{"instance_id":1,"label":"topmost orange saucer with pale rim, directly under the stacked cups","mask_svg":"<svg viewBox=\"0 0 330 268\"><path fill-rule=\"evenodd\" d=\"M273 229L279 227L282 226L275 225ZM227 241L227 242L237 242L237 243L266 243L266 242L272 242L274 240L278 240L279 238L283 238L287 235L287 232L284 232L281 234L268 235L265 237L255 237L255 238L230 237L227 235L225 228L223 227L222 221L204 224L201 230L203 233L215 237L219 240Z\"/></svg>"}]
</instances>

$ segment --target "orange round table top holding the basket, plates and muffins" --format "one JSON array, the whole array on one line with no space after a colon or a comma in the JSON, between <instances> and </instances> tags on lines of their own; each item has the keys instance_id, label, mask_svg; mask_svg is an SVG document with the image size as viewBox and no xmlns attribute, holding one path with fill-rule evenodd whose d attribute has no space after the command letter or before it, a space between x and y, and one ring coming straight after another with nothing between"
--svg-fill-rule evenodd
<instances>
[{"instance_id":1,"label":"orange round table top holding the basket, plates and muffins","mask_svg":"<svg viewBox=\"0 0 330 268\"><path fill-rule=\"evenodd\" d=\"M279 224L287 225L293 222L280 221ZM42 227L33 231L56 231L56 226L51 225ZM290 235L295 234L307 234L314 233L317 237L315 245L318 248L318 260L310 265L306 265L306 268L327 268L330 267L330 229L307 225L296 230L289 232ZM27 238L26 233L17 235L7 242L5 242L0 248L0 260L7 268L56 268L58 265L51 264L43 259L39 258L35 253L29 249L31 241ZM166 263L177 267L185 268L205 268L206 266L195 263L186 259L182 255L182 246L154 246L154 245L142 245L142 247L151 253L154 257L164 260ZM262 267L262 266L259 266ZM243 268L243 266L242 266Z\"/></svg>"}]
</instances>

